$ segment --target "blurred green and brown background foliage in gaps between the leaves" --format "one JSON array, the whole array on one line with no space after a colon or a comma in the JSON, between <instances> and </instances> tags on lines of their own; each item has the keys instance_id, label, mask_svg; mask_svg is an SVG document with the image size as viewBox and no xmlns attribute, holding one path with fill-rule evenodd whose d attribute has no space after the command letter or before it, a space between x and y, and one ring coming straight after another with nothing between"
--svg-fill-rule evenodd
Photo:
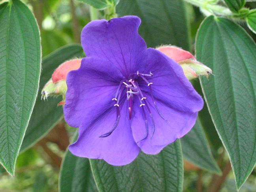
<instances>
[{"instance_id":1,"label":"blurred green and brown background foliage in gaps between the leaves","mask_svg":"<svg viewBox=\"0 0 256 192\"><path fill-rule=\"evenodd\" d=\"M122 0L120 0L122 1ZM56 49L70 44L80 43L80 32L90 21L90 7L76 0L24 0L24 3L33 11L41 32L41 46L43 57ZM185 4L188 19L191 24L191 45L183 47L194 50L196 32L203 21L204 16L194 6ZM256 8L256 2L247 3L247 7ZM118 11L117 11L118 12ZM125 13L122 13L125 15ZM104 12L99 11L98 17L103 17ZM256 35L248 30L245 23L240 23L245 30L256 40ZM153 44L153 43L152 43ZM192 82L201 94L198 80ZM207 186L211 183L221 185L221 192L236 191L235 180L228 162L228 156L224 151L221 141L216 133L213 123L208 117L205 118L207 108L200 112L204 116L202 124L207 126L204 130L210 143L214 158L222 169L221 176L213 175L189 162L184 162L184 185L186 192L211 191ZM1 192L56 192L58 191L58 177L61 160L70 143L75 129L68 127L61 120L47 136L38 141L32 148L24 151L18 157L15 177L10 177L0 167L0 191ZM256 170L252 171L240 192L256 191Z\"/></svg>"}]
</instances>

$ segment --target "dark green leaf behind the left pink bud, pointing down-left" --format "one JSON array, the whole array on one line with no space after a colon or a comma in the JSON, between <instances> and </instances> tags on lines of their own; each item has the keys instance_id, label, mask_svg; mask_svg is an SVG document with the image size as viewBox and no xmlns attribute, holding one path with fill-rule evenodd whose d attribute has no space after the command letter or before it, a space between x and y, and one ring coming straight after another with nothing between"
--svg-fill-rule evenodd
<instances>
[{"instance_id":1,"label":"dark green leaf behind the left pink bud, pointing down-left","mask_svg":"<svg viewBox=\"0 0 256 192\"><path fill-rule=\"evenodd\" d=\"M40 78L40 89L36 100L26 134L21 146L21 151L28 149L41 137L45 136L51 128L62 118L63 108L57 107L62 98L49 98L41 100L41 90L45 83L51 78L54 70L64 61L74 57L82 56L83 49L80 45L67 45L46 56L42 62L42 74Z\"/></svg>"}]
</instances>

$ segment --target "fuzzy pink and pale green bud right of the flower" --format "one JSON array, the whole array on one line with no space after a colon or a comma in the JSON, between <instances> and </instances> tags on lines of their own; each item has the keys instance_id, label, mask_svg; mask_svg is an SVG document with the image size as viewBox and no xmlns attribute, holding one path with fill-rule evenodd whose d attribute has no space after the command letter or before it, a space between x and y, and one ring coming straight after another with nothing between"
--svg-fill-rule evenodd
<instances>
[{"instance_id":1,"label":"fuzzy pink and pale green bud right of the flower","mask_svg":"<svg viewBox=\"0 0 256 192\"><path fill-rule=\"evenodd\" d=\"M188 80L205 75L206 77L212 73L212 70L196 60L194 55L176 46L162 46L157 48L169 58L175 60L183 69L184 75Z\"/></svg>"}]
</instances>

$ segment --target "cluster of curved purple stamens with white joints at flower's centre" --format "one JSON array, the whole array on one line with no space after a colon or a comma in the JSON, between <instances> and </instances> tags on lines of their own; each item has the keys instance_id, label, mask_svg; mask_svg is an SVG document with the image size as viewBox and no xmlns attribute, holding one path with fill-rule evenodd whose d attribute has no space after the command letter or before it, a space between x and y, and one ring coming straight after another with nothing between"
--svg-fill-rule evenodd
<instances>
[{"instance_id":1,"label":"cluster of curved purple stamens with white joints at flower's centre","mask_svg":"<svg viewBox=\"0 0 256 192\"><path fill-rule=\"evenodd\" d=\"M162 119L166 120L164 118L164 116L162 115L162 113L160 113L157 105L156 105L156 102L154 100L154 96L153 96L153 93L152 93L152 84L151 82L149 82L147 80L147 77L152 77L153 74L150 72L149 74L143 74L143 73L139 73L137 72L136 74L132 75L133 77L140 77L142 78L145 83L147 83L147 86L149 87L149 90L150 90L150 94L151 94L151 98L152 98L152 102L154 104L154 107L156 109L156 111L158 112L158 114L160 115L160 117L162 117ZM155 130L155 124L154 124L154 119L153 119L153 115L151 113L151 110L149 108L149 105L147 104L147 98L145 96L143 96L143 92L142 90L139 88L139 84L137 83L136 79L135 78L131 78L129 80L122 80L120 83L119 83L119 86L117 88L117 92L115 94L115 98L112 99L112 101L115 101L115 104L114 106L116 107L117 109L117 117L116 117L116 120L115 120L115 123L114 123L114 126L113 128L101 135L100 137L107 137L107 136L110 136L112 134L112 132L115 130L115 128L117 128L117 125L119 124L119 121L120 121L120 108L119 108L119 102L120 102L120 97L122 95L122 92L123 90L126 89L126 97L127 97L127 102L129 102L129 107L128 107L128 110L129 110L129 119L132 119L132 104L133 104L133 99L134 97L136 97L138 100L139 100L139 107L141 107L141 110L142 110L142 114L143 114L143 119L145 121L145 136L140 140L140 141L143 141L144 139L147 138L148 136L148 133L149 133L149 121L147 119L147 113L149 114L150 116L150 119L151 119L151 125L152 125L152 136L154 134L154 130ZM168 120L166 120L168 122ZM152 138L151 136L151 138ZM138 142L140 142L138 141ZM138 143L137 142L137 143Z\"/></svg>"}]
</instances>

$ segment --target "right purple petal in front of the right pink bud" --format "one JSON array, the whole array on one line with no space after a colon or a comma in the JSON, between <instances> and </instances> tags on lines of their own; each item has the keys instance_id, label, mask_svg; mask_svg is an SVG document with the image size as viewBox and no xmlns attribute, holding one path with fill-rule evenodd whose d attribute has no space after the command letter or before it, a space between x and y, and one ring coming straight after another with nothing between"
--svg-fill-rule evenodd
<instances>
[{"instance_id":1,"label":"right purple petal in front of the right pink bud","mask_svg":"<svg viewBox=\"0 0 256 192\"><path fill-rule=\"evenodd\" d=\"M147 50L147 66L144 73L153 74L147 80L153 83L151 87L154 98L177 111L200 111L203 99L185 77L181 66L156 49ZM150 94L147 83L140 81L141 90Z\"/></svg>"}]
</instances>

